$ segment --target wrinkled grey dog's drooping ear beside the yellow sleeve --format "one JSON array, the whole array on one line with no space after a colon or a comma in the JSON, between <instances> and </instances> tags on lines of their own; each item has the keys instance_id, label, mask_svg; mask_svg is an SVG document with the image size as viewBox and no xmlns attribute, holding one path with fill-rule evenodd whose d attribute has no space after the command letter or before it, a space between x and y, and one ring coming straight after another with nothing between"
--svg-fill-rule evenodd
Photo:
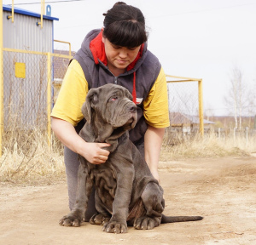
<instances>
[{"instance_id":1,"label":"wrinkled grey dog's drooping ear beside the yellow sleeve","mask_svg":"<svg viewBox=\"0 0 256 245\"><path fill-rule=\"evenodd\" d=\"M82 106L82 113L87 122L90 123L92 116L92 105L95 105L98 101L98 89L91 88L86 96L84 105Z\"/></svg>"}]
</instances>

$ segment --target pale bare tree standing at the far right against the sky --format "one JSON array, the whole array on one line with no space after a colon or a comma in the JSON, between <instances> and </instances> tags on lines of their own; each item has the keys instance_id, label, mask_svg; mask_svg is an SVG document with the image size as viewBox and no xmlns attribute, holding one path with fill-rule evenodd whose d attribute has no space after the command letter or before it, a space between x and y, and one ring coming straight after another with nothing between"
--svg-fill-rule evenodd
<instances>
[{"instance_id":1,"label":"pale bare tree standing at the far right against the sky","mask_svg":"<svg viewBox=\"0 0 256 245\"><path fill-rule=\"evenodd\" d=\"M235 119L235 127L241 128L241 116L247 113L247 83L239 67L234 66L230 75L230 89L224 97L225 104Z\"/></svg>"}]
</instances>

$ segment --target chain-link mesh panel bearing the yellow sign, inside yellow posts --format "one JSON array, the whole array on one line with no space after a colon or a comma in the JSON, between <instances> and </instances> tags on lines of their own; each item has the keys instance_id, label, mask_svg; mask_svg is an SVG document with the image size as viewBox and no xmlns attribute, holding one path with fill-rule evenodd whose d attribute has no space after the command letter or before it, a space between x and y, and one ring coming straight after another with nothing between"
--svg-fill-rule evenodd
<instances>
[{"instance_id":1,"label":"chain-link mesh panel bearing the yellow sign, inside yellow posts","mask_svg":"<svg viewBox=\"0 0 256 245\"><path fill-rule=\"evenodd\" d=\"M47 55L3 52L3 130L47 125Z\"/></svg>"}]
</instances>

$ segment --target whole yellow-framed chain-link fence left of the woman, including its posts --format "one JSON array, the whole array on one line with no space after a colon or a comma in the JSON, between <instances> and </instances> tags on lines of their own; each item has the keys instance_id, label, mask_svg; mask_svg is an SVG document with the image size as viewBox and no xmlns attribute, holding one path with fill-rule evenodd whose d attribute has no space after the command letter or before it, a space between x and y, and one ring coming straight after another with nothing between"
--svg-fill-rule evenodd
<instances>
[{"instance_id":1,"label":"whole yellow-framed chain-link fence left of the woman, including its posts","mask_svg":"<svg viewBox=\"0 0 256 245\"><path fill-rule=\"evenodd\" d=\"M36 128L47 132L50 142L49 115L71 58L67 51L3 48L2 134L26 135Z\"/></svg>"}]
</instances>

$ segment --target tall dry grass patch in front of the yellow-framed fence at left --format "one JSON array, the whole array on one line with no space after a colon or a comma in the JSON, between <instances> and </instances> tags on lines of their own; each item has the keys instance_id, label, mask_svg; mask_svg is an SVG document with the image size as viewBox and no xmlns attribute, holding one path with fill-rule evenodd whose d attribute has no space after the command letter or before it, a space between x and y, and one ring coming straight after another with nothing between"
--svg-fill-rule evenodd
<instances>
[{"instance_id":1,"label":"tall dry grass patch in front of the yellow-framed fence at left","mask_svg":"<svg viewBox=\"0 0 256 245\"><path fill-rule=\"evenodd\" d=\"M65 172L62 146L55 138L51 149L46 134L37 129L8 132L3 137L0 181L36 184L62 178Z\"/></svg>"}]
</instances>

